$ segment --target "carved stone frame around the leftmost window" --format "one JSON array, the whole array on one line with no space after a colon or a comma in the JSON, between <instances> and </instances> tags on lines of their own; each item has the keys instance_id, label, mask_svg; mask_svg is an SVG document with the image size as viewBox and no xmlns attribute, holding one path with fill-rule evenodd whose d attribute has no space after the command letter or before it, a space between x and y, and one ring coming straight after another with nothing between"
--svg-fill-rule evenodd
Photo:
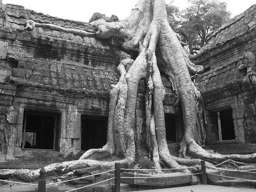
<instances>
[{"instance_id":1,"label":"carved stone frame around the leftmost window","mask_svg":"<svg viewBox=\"0 0 256 192\"><path fill-rule=\"evenodd\" d=\"M66 137L66 114L67 114L67 107L64 106L46 106L44 104L34 104L34 103L23 103L20 102L18 107L18 115L17 115L17 128L18 128L18 135L16 137L16 145L19 148L19 152L17 150L14 151L14 156L20 156L21 150L21 142L22 142L22 127L23 127L23 118L24 118L24 111L25 110L36 110L40 112L50 112L50 113L57 113L60 115L59 125L60 128L60 137ZM60 141L57 141L60 145ZM60 146L61 147L61 146ZM40 149L30 149L30 150L40 150ZM58 150L54 150L58 151ZM58 151L60 152L60 151Z\"/></svg>"}]
</instances>

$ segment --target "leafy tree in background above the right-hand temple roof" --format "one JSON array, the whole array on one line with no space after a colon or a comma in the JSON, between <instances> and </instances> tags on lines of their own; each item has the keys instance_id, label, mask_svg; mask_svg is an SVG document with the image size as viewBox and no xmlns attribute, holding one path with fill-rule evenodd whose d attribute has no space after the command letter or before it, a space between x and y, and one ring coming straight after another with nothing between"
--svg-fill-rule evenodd
<instances>
[{"instance_id":1,"label":"leafy tree in background above the right-hand temple roof","mask_svg":"<svg viewBox=\"0 0 256 192\"><path fill-rule=\"evenodd\" d=\"M188 0L190 6L181 12L167 5L169 24L188 45L190 54L206 43L206 36L229 18L227 4L219 0Z\"/></svg>"}]
</instances>

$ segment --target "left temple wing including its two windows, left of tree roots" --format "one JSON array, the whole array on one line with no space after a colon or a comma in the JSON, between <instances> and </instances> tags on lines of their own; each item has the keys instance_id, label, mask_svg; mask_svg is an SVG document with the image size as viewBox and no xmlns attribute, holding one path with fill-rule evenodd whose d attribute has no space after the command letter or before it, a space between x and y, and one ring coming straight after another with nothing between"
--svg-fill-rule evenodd
<instances>
[{"instance_id":1,"label":"left temple wing including its two windows, left of tree roots","mask_svg":"<svg viewBox=\"0 0 256 192\"><path fill-rule=\"evenodd\" d=\"M94 38L38 28L31 18L84 30L82 22L1 5L1 154L76 155L106 142L116 48ZM84 139L81 139L84 138Z\"/></svg>"}]
</instances>

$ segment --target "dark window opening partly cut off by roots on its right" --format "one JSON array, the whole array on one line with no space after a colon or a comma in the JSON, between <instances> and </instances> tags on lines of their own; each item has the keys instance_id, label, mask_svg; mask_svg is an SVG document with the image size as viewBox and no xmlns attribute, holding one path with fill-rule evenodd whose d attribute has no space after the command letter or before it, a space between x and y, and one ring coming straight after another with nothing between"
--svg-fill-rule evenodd
<instances>
[{"instance_id":1,"label":"dark window opening partly cut off by roots on its right","mask_svg":"<svg viewBox=\"0 0 256 192\"><path fill-rule=\"evenodd\" d=\"M107 142L108 118L82 117L81 150L101 148Z\"/></svg>"}]
</instances>

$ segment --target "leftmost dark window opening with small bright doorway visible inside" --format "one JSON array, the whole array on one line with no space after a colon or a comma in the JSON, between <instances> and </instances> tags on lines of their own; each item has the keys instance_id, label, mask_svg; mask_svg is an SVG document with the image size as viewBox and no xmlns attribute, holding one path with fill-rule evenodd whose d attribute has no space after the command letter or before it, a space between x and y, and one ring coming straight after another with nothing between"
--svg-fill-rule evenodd
<instances>
[{"instance_id":1,"label":"leftmost dark window opening with small bright doorway visible inside","mask_svg":"<svg viewBox=\"0 0 256 192\"><path fill-rule=\"evenodd\" d=\"M58 132L58 114L24 112L22 148L55 149Z\"/></svg>"}]
</instances>

